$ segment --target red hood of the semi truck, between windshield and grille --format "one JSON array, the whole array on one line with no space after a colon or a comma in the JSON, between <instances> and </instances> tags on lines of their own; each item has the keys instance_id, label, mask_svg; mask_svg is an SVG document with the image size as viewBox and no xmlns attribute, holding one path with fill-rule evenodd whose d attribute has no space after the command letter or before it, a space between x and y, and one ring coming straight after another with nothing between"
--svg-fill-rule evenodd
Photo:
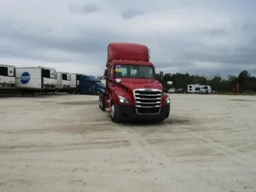
<instances>
[{"instance_id":1,"label":"red hood of the semi truck, between windshield and grille","mask_svg":"<svg viewBox=\"0 0 256 192\"><path fill-rule=\"evenodd\" d=\"M163 90L163 85L157 79L125 79L120 78L121 84L124 84L131 90L135 89L158 89Z\"/></svg>"}]
</instances>

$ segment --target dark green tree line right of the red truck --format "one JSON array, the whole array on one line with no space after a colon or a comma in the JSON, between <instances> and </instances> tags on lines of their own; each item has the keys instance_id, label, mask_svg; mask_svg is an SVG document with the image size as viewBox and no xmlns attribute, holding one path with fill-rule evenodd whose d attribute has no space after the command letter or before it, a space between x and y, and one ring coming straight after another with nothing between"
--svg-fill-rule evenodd
<instances>
[{"instance_id":1,"label":"dark green tree line right of the red truck","mask_svg":"<svg viewBox=\"0 0 256 192\"><path fill-rule=\"evenodd\" d=\"M165 73L162 84L168 89L167 81L172 81L176 89L188 89L188 84L204 84L210 85L212 90L218 93L232 92L239 84L239 92L256 92L256 77L253 77L246 70L236 75L229 75L227 79L221 78L219 75L206 77L200 75L190 75L189 73Z\"/></svg>"}]
</instances>

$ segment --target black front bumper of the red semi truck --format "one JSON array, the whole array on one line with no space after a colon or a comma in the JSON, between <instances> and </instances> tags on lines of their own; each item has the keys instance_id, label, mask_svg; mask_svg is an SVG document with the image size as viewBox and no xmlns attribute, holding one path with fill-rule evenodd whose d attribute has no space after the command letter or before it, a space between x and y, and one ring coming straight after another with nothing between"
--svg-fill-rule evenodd
<instances>
[{"instance_id":1,"label":"black front bumper of the red semi truck","mask_svg":"<svg viewBox=\"0 0 256 192\"><path fill-rule=\"evenodd\" d=\"M154 113L145 113L145 110L150 109L143 109L143 113L139 108L132 108L130 106L123 106L123 105L116 105L115 111L116 115L119 116L119 119L134 119L134 120L161 120L166 119L169 117L170 113L170 106L166 106L163 108L160 108L159 110L155 110Z\"/></svg>"}]
</instances>

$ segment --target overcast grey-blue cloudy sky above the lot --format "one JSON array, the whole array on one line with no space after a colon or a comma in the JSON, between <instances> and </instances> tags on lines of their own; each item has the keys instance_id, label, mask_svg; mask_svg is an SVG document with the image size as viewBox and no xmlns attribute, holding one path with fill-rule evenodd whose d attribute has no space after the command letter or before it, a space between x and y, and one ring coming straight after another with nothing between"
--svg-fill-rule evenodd
<instances>
[{"instance_id":1,"label":"overcast grey-blue cloudy sky above the lot","mask_svg":"<svg viewBox=\"0 0 256 192\"><path fill-rule=\"evenodd\" d=\"M0 0L0 63L102 75L111 42L165 73L256 75L255 0Z\"/></svg>"}]
</instances>

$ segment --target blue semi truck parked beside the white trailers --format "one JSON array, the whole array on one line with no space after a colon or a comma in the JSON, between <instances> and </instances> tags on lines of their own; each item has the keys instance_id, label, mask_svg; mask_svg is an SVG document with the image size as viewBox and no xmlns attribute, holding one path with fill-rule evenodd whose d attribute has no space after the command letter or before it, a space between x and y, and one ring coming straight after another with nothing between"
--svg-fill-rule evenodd
<instances>
[{"instance_id":1,"label":"blue semi truck parked beside the white trailers","mask_svg":"<svg viewBox=\"0 0 256 192\"><path fill-rule=\"evenodd\" d=\"M102 84L100 79L91 75L81 74L79 78L79 94L96 94L99 96L101 93L105 92L106 87Z\"/></svg>"}]
</instances>

